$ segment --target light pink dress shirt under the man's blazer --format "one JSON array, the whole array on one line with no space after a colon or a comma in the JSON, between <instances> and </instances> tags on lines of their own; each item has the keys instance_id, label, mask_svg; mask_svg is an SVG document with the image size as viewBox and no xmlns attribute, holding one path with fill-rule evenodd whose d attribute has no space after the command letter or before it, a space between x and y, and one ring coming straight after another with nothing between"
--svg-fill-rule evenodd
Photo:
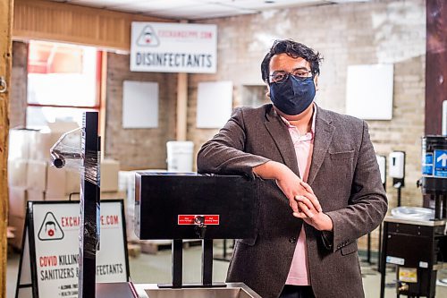
<instances>
[{"instance_id":1,"label":"light pink dress shirt under the man's blazer","mask_svg":"<svg viewBox=\"0 0 447 298\"><path fill-rule=\"evenodd\" d=\"M314 149L315 118L316 110L314 109L311 131L304 135L299 133L296 126L291 125L291 123L283 118L283 122L286 123L289 129L291 140L293 141L293 146L295 147L299 176L304 182L308 181L308 171L312 160L312 151ZM297 246L295 247L295 252L293 253L293 260L291 260L291 268L285 282L286 285L310 285L310 278L308 275L308 247L306 245L306 232L304 231L304 225L305 224L303 223L301 231L299 232Z\"/></svg>"}]
</instances>

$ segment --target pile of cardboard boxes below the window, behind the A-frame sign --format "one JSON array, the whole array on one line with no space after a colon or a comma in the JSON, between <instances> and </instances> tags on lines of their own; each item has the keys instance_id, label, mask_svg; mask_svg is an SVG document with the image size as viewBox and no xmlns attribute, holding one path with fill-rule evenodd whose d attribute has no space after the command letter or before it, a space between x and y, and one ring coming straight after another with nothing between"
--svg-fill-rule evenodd
<instances>
[{"instance_id":1,"label":"pile of cardboard boxes below the window, behind the A-frame sign","mask_svg":"<svg viewBox=\"0 0 447 298\"><path fill-rule=\"evenodd\" d=\"M13 247L21 249L21 232L29 200L80 199L80 168L55 168L50 160L50 149L57 140L77 127L76 123L50 123L48 129L41 131L10 130L9 225L16 230L11 240ZM79 139L73 138L72 142L70 146L80 145ZM119 168L116 160L101 162L101 200L126 199L126 193L119 192L118 188Z\"/></svg>"}]
</instances>

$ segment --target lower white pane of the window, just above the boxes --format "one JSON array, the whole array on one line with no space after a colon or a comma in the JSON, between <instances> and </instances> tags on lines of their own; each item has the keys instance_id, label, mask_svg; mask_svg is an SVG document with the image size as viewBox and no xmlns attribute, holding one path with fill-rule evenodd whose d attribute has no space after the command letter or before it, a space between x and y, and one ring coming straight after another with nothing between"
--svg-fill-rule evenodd
<instances>
[{"instance_id":1,"label":"lower white pane of the window, just above the boxes","mask_svg":"<svg viewBox=\"0 0 447 298\"><path fill-rule=\"evenodd\" d=\"M95 109L53 106L28 106L27 128L40 129L55 121L76 122L82 126L82 114Z\"/></svg>"}]
</instances>

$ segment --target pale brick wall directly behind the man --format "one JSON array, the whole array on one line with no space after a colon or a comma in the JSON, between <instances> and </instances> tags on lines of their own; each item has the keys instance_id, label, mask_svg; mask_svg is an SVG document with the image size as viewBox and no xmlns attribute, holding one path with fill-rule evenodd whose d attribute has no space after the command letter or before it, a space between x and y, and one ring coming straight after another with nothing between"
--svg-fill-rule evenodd
<instances>
[{"instance_id":1,"label":"pale brick wall directly behind the man","mask_svg":"<svg viewBox=\"0 0 447 298\"><path fill-rule=\"evenodd\" d=\"M198 82L233 81L233 106L240 106L245 102L242 97L246 86L263 88L260 62L273 40L293 38L324 55L316 102L336 112L345 111L349 65L394 64L392 120L368 121L369 130L378 154L407 152L402 204L422 205L416 181L420 177L420 138L425 120L424 0L328 4L203 22L218 26L218 72L190 75L188 138L194 140L196 151L217 132L195 127ZM397 192L391 183L388 178L388 198L393 208Z\"/></svg>"}]
</instances>

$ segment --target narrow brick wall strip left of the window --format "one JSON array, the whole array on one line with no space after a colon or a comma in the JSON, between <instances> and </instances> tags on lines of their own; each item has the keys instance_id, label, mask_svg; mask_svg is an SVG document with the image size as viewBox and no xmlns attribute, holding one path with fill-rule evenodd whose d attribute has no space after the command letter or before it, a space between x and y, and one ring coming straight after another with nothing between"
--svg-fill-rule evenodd
<instances>
[{"instance_id":1,"label":"narrow brick wall strip left of the window","mask_svg":"<svg viewBox=\"0 0 447 298\"><path fill-rule=\"evenodd\" d=\"M13 41L13 72L9 97L10 127L25 126L28 81L28 44Z\"/></svg>"}]
</instances>

